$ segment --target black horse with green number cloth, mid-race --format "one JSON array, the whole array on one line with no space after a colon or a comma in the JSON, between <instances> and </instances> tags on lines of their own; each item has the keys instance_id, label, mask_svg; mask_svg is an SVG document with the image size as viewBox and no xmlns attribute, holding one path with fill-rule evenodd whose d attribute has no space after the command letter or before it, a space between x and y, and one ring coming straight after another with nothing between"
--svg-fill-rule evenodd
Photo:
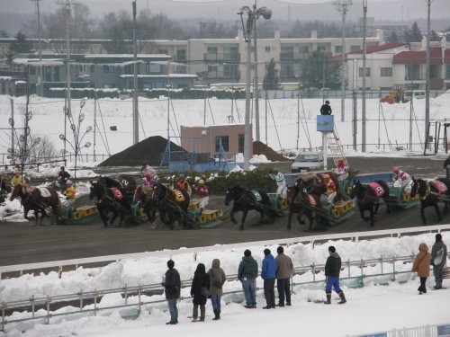
<instances>
[{"instance_id":1,"label":"black horse with green number cloth, mid-race","mask_svg":"<svg viewBox=\"0 0 450 337\"><path fill-rule=\"evenodd\" d=\"M229 217L234 224L238 224L238 221L236 221L236 218L234 217L234 213L237 211L242 212L240 230L244 230L244 223L247 218L247 213L251 209L255 209L259 212L261 215L261 224L264 222L265 213L272 220L275 219L275 209L272 207L269 196L265 191L250 191L240 186L234 186L229 188L227 194L225 195L225 205L228 206L231 200L234 200L234 203Z\"/></svg>"}]
</instances>

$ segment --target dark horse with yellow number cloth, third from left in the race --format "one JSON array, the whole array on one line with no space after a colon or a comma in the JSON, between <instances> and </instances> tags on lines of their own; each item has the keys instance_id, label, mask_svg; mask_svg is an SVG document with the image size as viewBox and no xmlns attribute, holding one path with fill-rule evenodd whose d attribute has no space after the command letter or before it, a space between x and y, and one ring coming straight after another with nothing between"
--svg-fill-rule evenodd
<instances>
[{"instance_id":1,"label":"dark horse with yellow number cloth, third from left in the race","mask_svg":"<svg viewBox=\"0 0 450 337\"><path fill-rule=\"evenodd\" d=\"M156 202L161 221L170 229L178 229L179 224L187 226L187 208L191 202L187 191L171 190L163 183L157 182L153 187L151 199Z\"/></svg>"}]
</instances>

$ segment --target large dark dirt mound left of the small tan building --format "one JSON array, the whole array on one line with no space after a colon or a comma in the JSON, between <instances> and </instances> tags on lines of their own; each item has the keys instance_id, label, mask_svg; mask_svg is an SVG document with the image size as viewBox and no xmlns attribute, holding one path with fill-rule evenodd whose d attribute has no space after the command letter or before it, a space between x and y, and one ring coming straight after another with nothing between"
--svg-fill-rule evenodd
<instances>
[{"instance_id":1,"label":"large dark dirt mound left of the small tan building","mask_svg":"<svg viewBox=\"0 0 450 337\"><path fill-rule=\"evenodd\" d=\"M148 137L118 154L110 156L98 166L139 166L147 163L159 166L166 151L167 139L161 136ZM186 152L183 147L170 142L170 151Z\"/></svg>"}]
</instances>

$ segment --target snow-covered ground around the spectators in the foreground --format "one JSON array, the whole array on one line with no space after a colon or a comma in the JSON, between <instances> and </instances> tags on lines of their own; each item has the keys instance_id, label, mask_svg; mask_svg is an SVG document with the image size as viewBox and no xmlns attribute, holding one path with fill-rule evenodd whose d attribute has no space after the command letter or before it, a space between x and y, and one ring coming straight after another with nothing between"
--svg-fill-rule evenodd
<instances>
[{"instance_id":1,"label":"snow-covered ground around the spectators in the foreground","mask_svg":"<svg viewBox=\"0 0 450 337\"><path fill-rule=\"evenodd\" d=\"M448 244L448 235L444 232L444 241ZM372 241L329 241L326 244L293 244L286 247L284 253L291 256L294 266L308 266L313 262L325 263L328 257L328 246L336 246L343 261L350 259L379 258L380 256L408 256L419 252L419 244L425 242L431 249L434 244L434 234L416 236L403 236L401 238L383 238ZM248 249L257 260L259 270L264 257L263 250L266 246L248 243ZM268 248L276 254L276 245ZM215 251L197 253L183 253L183 250L172 254L161 252L160 256L140 259L124 260L112 263L103 268L83 269L67 271L58 279L56 272L48 275L41 274L37 277L23 275L18 279L3 279L0 283L0 298L9 301L17 298L44 297L46 295L60 295L73 293L80 289L89 291L103 288L120 288L127 284L159 283L161 275L166 271L166 261L172 258L175 261L175 269L180 272L182 279L191 279L197 263L204 263L207 268L211 266L214 258L220 259L221 267L226 274L236 274L238 263L243 256L243 249L227 249L227 246L217 246ZM448 261L447 261L448 262ZM396 262L396 270L410 271L411 263ZM352 275L360 271L352 268ZM392 270L391 266L384 265L384 270ZM366 273L377 273L379 266L368 267ZM347 275L347 268L341 272L341 276ZM323 273L316 275L317 279L323 279ZM294 282L305 282L312 279L310 272L295 275ZM325 299L324 284L303 285L294 288L293 306L276 308L275 310L263 310L266 301L262 289L257 291L257 309L248 310L242 303L244 297L239 291L238 281L229 281L224 286L224 291L237 290L237 294L229 294L222 297L221 319L218 322L211 321L211 304L207 304L205 323L192 324L189 318L192 316L192 301L189 296L189 288L184 288L183 301L178 303L179 324L167 326L169 314L166 302L152 306L145 306L141 315L135 320L121 318L121 310L109 312L100 311L97 316L58 316L50 319L50 324L43 322L8 324L6 333L0 336L16 337L57 337L57 336L110 336L119 337L129 335L133 337L148 335L163 336L199 336L207 331L219 337L235 335L269 336L291 335L302 336L347 336L356 334L369 334L376 332L400 329L403 327L418 327L426 324L450 324L448 315L448 301L450 290L429 290L427 294L419 296L417 288L419 279L410 280L410 273L397 275L397 281L392 282L389 276L366 278L364 288L349 288L355 285L356 280L342 282L347 297L347 304L338 306L338 296L333 293L332 305L324 306L317 301ZM379 285L380 283L384 285ZM387 283L387 285L386 285ZM428 287L434 283L431 276L428 278ZM450 280L444 282L450 286ZM262 279L257 279L257 286L263 288ZM276 290L275 290L275 296ZM148 298L144 298L148 299ZM153 297L152 297L153 299ZM163 299L156 296L155 299ZM129 303L137 303L138 298L132 297ZM105 295L99 306L113 306L123 303L117 295ZM89 306L93 307L93 306ZM56 314L69 309L59 309ZM74 310L73 308L71 310ZM76 309L75 309L76 310ZM40 311L37 314L43 315ZM30 314L14 314L11 319L29 316ZM211 330L213 329L213 330ZM21 333L21 331L25 331ZM421 335L421 334L419 334Z\"/></svg>"}]
</instances>

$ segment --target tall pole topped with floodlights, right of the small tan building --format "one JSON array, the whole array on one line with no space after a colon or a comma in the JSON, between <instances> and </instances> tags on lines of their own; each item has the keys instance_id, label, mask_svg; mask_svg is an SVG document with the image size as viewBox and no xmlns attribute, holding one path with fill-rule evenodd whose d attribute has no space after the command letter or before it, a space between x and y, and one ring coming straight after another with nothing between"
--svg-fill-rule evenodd
<instances>
[{"instance_id":1,"label":"tall pole topped with floodlights, right of the small tan building","mask_svg":"<svg viewBox=\"0 0 450 337\"><path fill-rule=\"evenodd\" d=\"M243 15L247 14L247 25L244 26ZM272 11L266 7L261 7L256 11L252 11L250 7L243 6L238 13L240 15L240 20L242 22L242 30L244 31L244 40L247 42L247 78L246 78L246 121L245 121L245 135L244 135L244 170L248 170L250 166L250 77L251 77L251 53L252 53L252 42L251 34L254 27L254 21L263 15L266 20L272 17ZM259 116L258 116L259 118ZM259 126L259 124L258 124Z\"/></svg>"}]
</instances>

